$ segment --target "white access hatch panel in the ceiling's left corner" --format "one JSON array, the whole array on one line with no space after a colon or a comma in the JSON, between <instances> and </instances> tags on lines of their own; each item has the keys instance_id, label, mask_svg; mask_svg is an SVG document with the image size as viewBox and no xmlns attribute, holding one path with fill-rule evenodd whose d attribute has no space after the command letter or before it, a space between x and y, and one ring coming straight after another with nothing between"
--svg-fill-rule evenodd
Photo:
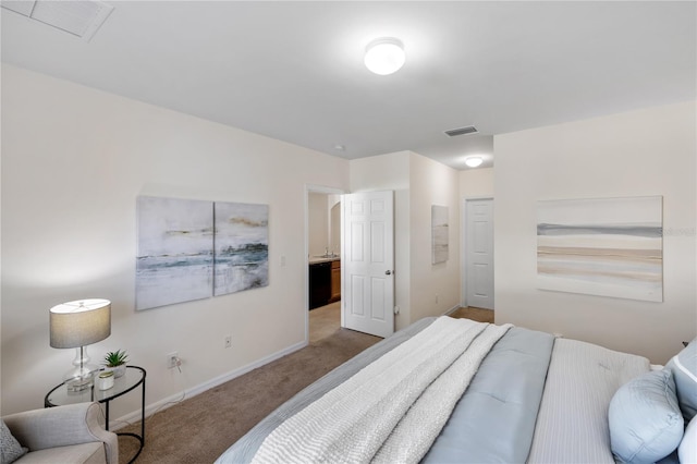
<instances>
[{"instance_id":1,"label":"white access hatch panel in the ceiling's left corner","mask_svg":"<svg viewBox=\"0 0 697 464\"><path fill-rule=\"evenodd\" d=\"M2 0L2 8L89 41L113 7L98 0Z\"/></svg>"}]
</instances>

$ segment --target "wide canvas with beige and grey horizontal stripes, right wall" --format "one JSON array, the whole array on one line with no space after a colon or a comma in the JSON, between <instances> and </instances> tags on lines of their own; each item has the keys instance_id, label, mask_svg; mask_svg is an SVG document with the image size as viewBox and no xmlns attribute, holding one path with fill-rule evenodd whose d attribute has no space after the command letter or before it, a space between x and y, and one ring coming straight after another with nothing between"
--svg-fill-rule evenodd
<instances>
[{"instance_id":1,"label":"wide canvas with beige and grey horizontal stripes, right wall","mask_svg":"<svg viewBox=\"0 0 697 464\"><path fill-rule=\"evenodd\" d=\"M538 288L663 301L661 196L541 200Z\"/></svg>"}]
</instances>

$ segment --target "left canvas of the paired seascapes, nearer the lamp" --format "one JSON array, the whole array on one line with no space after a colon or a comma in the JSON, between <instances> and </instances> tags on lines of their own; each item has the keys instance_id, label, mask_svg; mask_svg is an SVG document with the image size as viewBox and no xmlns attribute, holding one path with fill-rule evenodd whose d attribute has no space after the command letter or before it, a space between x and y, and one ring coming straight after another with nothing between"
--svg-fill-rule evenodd
<instances>
[{"instance_id":1,"label":"left canvas of the paired seascapes, nearer the lamp","mask_svg":"<svg viewBox=\"0 0 697 464\"><path fill-rule=\"evenodd\" d=\"M136 309L212 295L212 202L138 197Z\"/></svg>"}]
</instances>

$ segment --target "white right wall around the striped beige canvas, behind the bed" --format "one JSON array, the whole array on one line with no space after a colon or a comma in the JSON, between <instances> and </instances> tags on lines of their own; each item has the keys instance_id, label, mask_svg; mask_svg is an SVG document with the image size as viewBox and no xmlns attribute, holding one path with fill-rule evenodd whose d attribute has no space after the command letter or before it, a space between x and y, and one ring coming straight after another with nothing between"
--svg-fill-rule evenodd
<instances>
[{"instance_id":1,"label":"white right wall around the striped beige canvas, behind the bed","mask_svg":"<svg viewBox=\"0 0 697 464\"><path fill-rule=\"evenodd\" d=\"M695 102L494 137L496 319L665 363L697 333ZM663 196L663 303L536 289L536 202Z\"/></svg>"}]
</instances>

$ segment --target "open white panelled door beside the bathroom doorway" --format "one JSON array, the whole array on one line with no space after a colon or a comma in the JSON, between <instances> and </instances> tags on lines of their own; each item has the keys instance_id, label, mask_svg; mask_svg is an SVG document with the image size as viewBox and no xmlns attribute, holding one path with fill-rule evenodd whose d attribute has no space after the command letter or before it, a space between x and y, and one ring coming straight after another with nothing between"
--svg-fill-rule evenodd
<instances>
[{"instance_id":1,"label":"open white panelled door beside the bathroom doorway","mask_svg":"<svg viewBox=\"0 0 697 464\"><path fill-rule=\"evenodd\" d=\"M394 332L393 196L357 193L341 202L341 325L378 337Z\"/></svg>"}]
</instances>

